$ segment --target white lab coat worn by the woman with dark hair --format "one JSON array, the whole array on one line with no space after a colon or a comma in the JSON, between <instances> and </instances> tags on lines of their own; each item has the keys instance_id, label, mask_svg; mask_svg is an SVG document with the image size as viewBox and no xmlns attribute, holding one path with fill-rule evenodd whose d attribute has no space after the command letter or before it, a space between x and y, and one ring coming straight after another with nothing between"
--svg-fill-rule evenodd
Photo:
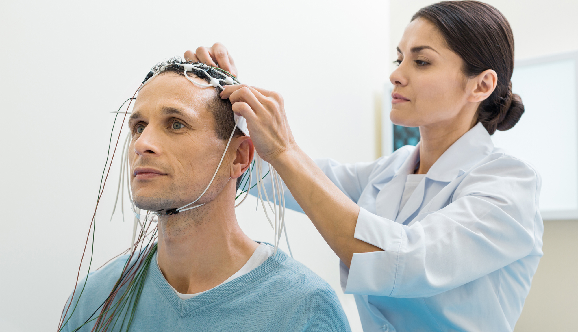
<instances>
[{"instance_id":1,"label":"white lab coat worn by the woman with dark hair","mask_svg":"<svg viewBox=\"0 0 578 332\"><path fill-rule=\"evenodd\" d=\"M405 146L371 163L316 161L361 206L355 238L383 249L340 264L364 331L512 331L542 257L540 176L478 123L398 211L418 159ZM302 211L288 191L286 206Z\"/></svg>"}]
</instances>

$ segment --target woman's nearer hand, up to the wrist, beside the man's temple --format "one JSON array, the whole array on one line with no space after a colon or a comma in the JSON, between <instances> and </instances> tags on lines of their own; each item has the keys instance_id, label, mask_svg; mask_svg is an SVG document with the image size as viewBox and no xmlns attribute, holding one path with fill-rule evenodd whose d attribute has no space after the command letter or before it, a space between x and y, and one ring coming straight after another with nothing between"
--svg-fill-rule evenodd
<instances>
[{"instance_id":1,"label":"woman's nearer hand, up to the wrist, beside the man's temple","mask_svg":"<svg viewBox=\"0 0 578 332\"><path fill-rule=\"evenodd\" d=\"M247 120L255 150L273 167L281 154L299 149L291 134L280 94L242 84L225 86L221 98L229 98L233 111Z\"/></svg>"}]
</instances>

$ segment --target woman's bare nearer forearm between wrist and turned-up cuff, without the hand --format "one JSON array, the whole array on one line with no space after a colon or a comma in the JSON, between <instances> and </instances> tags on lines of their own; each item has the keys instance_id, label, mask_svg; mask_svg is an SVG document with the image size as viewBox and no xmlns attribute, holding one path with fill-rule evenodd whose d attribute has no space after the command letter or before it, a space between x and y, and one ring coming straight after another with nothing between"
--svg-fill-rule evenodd
<instances>
[{"instance_id":1,"label":"woman's bare nearer forearm between wrist and turned-up cuff, without the hand","mask_svg":"<svg viewBox=\"0 0 578 332\"><path fill-rule=\"evenodd\" d=\"M351 201L301 149L271 160L291 194L331 249L348 267L353 253L381 250L354 238L360 207Z\"/></svg>"}]
</instances>

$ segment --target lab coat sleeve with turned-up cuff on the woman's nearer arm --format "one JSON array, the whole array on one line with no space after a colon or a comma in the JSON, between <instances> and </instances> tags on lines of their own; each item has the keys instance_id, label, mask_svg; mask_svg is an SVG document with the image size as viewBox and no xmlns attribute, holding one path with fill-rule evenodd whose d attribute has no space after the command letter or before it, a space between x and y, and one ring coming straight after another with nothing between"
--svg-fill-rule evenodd
<instances>
[{"instance_id":1,"label":"lab coat sleeve with turned-up cuff on the woman's nearer arm","mask_svg":"<svg viewBox=\"0 0 578 332\"><path fill-rule=\"evenodd\" d=\"M355 238L383 251L353 255L346 293L429 297L490 274L532 250L541 256L539 246L535 248L543 231L535 170L501 156L463 176L450 204L438 211L424 209L410 226L361 209Z\"/></svg>"}]
</instances>

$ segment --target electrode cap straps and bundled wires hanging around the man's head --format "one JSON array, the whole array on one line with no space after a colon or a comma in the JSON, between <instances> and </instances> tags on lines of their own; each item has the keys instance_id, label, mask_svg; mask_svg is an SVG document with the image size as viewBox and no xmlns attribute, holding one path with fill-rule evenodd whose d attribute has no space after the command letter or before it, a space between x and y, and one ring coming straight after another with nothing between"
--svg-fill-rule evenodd
<instances>
[{"instance_id":1,"label":"electrode cap straps and bundled wires hanging around the man's head","mask_svg":"<svg viewBox=\"0 0 578 332\"><path fill-rule=\"evenodd\" d=\"M106 180L108 179L108 175L110 173L110 168L112 166L112 162L114 159L114 154L116 153L116 149L118 147L118 143L120 142L120 136L122 132L123 124L126 120L129 112L129 108L132 104L132 101L136 99L136 95L140 91L140 89L149 83L152 79L158 76L160 73L164 72L167 68L172 67L172 69L182 69L183 75L185 78L190 80L193 84L206 88L206 87L215 87L224 90L223 85L231 85L231 84L240 84L239 80L231 75L231 73L224 71L223 69L210 67L208 65L202 64L200 62L193 63L193 62L184 62L179 57L171 58L168 61L161 62L157 66L151 70L146 77L144 78L142 84L138 87L135 91L134 95L131 98L128 98L120 108L112 113L116 113L113 122L113 129L110 133L110 140L109 140L109 154L106 157L105 161L105 168L103 169L102 176L101 176L101 185L98 191L98 198L97 204L94 209L94 213L92 214L92 220L90 223L86 243L84 245L84 251L81 258L81 264L84 259L84 254L86 253L86 248L88 245L88 239L90 238L90 234L92 233L92 248L94 250L94 228L96 224L96 211L98 208L98 203L101 200L103 190L106 185ZM192 80L190 76L187 75L187 72L193 73L198 78L204 79L209 84L202 84L195 80ZM128 106L126 110L121 111L123 106L128 102ZM110 155L110 146L112 143L112 137L114 132L114 126L116 124L116 120L118 115L124 115L123 121L121 123L121 132L118 133L116 145L114 146L112 156ZM223 156L219 161L216 171L214 172L213 178L210 180L208 185L206 186L205 190L202 192L199 197L190 202L189 204L183 205L180 208L172 208L172 209L164 209L161 211L146 211L142 213L142 211L134 204L132 200L132 192L130 186L130 165L128 162L129 158L129 146L131 145L131 138L132 134L129 132L127 137L124 139L123 143L123 150L121 152L121 162L120 162L120 173L118 175L118 188L116 193L116 200L114 202L114 208L111 215L114 215L114 211L116 211L116 206L118 203L118 198L120 197L120 208L121 214L123 215L124 220L124 185L126 183L126 191L128 194L128 198L130 201L132 212L134 213L134 225L132 230L132 239L131 239L131 248L128 248L124 252L118 254L121 256L123 254L128 253L127 260L124 264L123 271L119 276L117 282L115 283L113 289L110 291L109 296L106 298L105 301L92 313L90 317L86 318L86 321L81 326L75 326L72 329L68 329L70 331L77 331L81 329L81 327L86 326L88 324L92 324L91 331L128 331L131 322L134 319L136 305L138 304L140 294L142 294L144 281L147 276L147 272L149 271L149 266L151 264L151 260L153 259L153 255L157 250L157 220L158 216L162 215L176 215L179 212L187 211L190 209L197 208L203 204L196 204L201 197L206 193L209 189L210 185L212 184L215 176L217 175L218 169L221 167L221 163L223 163L223 158L229 144L231 143L231 139L234 136L236 128L239 128L240 131L243 132L245 135L249 135L249 130L247 130L247 124L243 117L239 117L234 115L235 119L235 127L231 133L231 137L227 142L227 146L225 147L225 151L223 152ZM110 162L109 162L110 157ZM284 233L285 238L287 241L287 246L291 257L293 256L291 253L291 247L289 246L289 241L287 237L287 231L285 229L285 197L284 197L284 190L283 190L283 181L281 180L279 174L275 171L275 169L269 165L269 171L266 174L263 174L263 163L264 161L261 157L255 152L255 158L250 164L249 169L242 175L240 180L240 186L237 191L237 195L235 200L238 199L241 195L244 194L242 200L235 205L235 207L242 204L247 195L249 195L249 190L253 189L257 186L257 207L259 202L261 202L261 206L265 211L265 216L269 221L269 224L273 228L273 235L274 235L274 245L275 245L275 253L277 252L277 248L279 247L279 242L281 239L281 235ZM108 169L108 170L107 170ZM106 176L105 176L106 172ZM255 172L255 184L251 186L253 183L253 172ZM269 175L271 180L271 189L272 189L272 199L269 198L267 194L267 190L265 187L265 177ZM192 205L192 206L191 206ZM269 210L269 211L268 211ZM269 212L272 213L272 217L269 215ZM274 254L275 254L274 253ZM116 256L116 257L118 257ZM113 257L116 258L116 257ZM112 260L112 259L111 259ZM109 261L111 261L109 260ZM108 263L108 262L107 262ZM90 257L90 263L88 265L88 271L90 272L90 265L92 264L92 251ZM106 265L106 263L105 263ZM84 282L82 285L78 284L78 279L80 276L80 269L79 267L78 274L76 276L76 283L75 289L72 292L72 296L69 301L66 303L64 309L62 310L62 316L60 323L58 324L58 332L62 331L68 320L71 316L75 313L77 305L79 304L80 297L84 292L86 287L86 283L88 280L88 274L86 278L84 278ZM98 270L98 269L97 269ZM77 292L77 288L79 289L79 294L75 297L75 293Z\"/></svg>"}]
</instances>

